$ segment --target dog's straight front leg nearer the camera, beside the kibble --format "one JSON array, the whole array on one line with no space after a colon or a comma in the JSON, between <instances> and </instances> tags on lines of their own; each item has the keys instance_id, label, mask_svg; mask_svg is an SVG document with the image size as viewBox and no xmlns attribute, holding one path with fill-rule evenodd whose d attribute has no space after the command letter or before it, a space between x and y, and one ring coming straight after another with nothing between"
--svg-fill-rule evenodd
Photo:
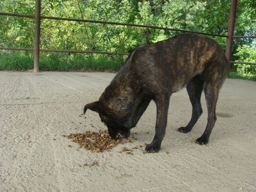
<instances>
[{"instance_id":1,"label":"dog's straight front leg nearer the camera, beside the kibble","mask_svg":"<svg viewBox=\"0 0 256 192\"><path fill-rule=\"evenodd\" d=\"M170 94L161 94L154 100L156 103L156 127L153 141L145 148L147 153L158 152L165 135Z\"/></svg>"}]
</instances>

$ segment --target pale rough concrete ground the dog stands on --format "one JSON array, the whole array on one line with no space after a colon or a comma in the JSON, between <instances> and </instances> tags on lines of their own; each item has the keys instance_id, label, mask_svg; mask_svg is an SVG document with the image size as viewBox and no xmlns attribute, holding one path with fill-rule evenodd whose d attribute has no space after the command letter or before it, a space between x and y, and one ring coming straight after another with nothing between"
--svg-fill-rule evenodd
<instances>
[{"instance_id":1,"label":"pale rough concrete ground the dog stands on","mask_svg":"<svg viewBox=\"0 0 256 192\"><path fill-rule=\"evenodd\" d=\"M183 89L171 96L158 153L142 153L154 137L153 102L131 131L137 140L110 152L78 148L62 135L106 130L95 112L81 114L114 75L0 72L1 192L256 192L256 82L226 80L206 146L194 143L206 126L204 95L204 113L192 131L176 131L192 112ZM134 146L133 155L120 153Z\"/></svg>"}]
</instances>

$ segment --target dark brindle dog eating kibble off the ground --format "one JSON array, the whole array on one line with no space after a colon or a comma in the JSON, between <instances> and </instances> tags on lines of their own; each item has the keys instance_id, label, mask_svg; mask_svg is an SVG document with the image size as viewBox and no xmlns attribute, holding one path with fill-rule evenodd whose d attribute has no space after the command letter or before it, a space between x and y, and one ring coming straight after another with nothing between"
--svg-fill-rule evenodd
<instances>
[{"instance_id":1,"label":"dark brindle dog eating kibble off the ground","mask_svg":"<svg viewBox=\"0 0 256 192\"><path fill-rule=\"evenodd\" d=\"M156 103L156 126L153 141L146 152L158 152L165 135L169 100L172 93L185 85L192 103L192 117L186 127L193 128L203 110L200 103L204 90L208 109L207 125L198 144L207 144L216 122L216 103L220 88L228 76L229 62L214 40L194 34L178 35L135 48L99 100L84 106L98 112L111 138L127 138L130 129L148 107Z\"/></svg>"}]
</instances>

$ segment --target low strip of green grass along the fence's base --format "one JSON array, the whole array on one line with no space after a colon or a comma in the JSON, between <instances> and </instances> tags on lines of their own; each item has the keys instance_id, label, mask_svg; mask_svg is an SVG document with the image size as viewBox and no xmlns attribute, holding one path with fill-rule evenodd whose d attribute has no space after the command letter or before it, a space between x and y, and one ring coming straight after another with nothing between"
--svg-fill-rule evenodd
<instances>
[{"instance_id":1,"label":"low strip of green grass along the fence's base","mask_svg":"<svg viewBox=\"0 0 256 192\"><path fill-rule=\"evenodd\" d=\"M26 71L34 68L33 52L0 52L0 70ZM41 71L118 71L127 56L102 54L41 53ZM256 74L230 72L230 78L256 81Z\"/></svg>"}]
</instances>

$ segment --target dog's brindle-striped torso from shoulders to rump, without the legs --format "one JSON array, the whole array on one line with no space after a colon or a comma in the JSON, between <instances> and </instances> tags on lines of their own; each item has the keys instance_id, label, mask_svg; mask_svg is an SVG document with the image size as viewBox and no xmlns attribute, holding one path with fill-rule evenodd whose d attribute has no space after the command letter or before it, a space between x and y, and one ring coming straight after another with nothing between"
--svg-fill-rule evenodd
<instances>
[{"instance_id":1,"label":"dog's brindle-striped torso from shoulders to rump, without the legs","mask_svg":"<svg viewBox=\"0 0 256 192\"><path fill-rule=\"evenodd\" d=\"M195 34L184 34L150 45L138 46L129 56L123 70L141 82L159 82L176 92L194 76L223 82L229 62L214 40ZM123 73L122 70L120 73Z\"/></svg>"}]
</instances>

